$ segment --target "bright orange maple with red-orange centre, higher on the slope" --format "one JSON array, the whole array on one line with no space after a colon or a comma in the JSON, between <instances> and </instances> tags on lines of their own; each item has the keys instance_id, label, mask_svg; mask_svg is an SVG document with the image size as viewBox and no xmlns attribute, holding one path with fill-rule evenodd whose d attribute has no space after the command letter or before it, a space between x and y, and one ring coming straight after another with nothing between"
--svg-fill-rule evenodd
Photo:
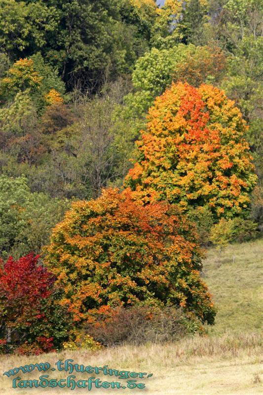
<instances>
[{"instance_id":1,"label":"bright orange maple with red-orange centre, higher on the slope","mask_svg":"<svg viewBox=\"0 0 263 395\"><path fill-rule=\"evenodd\" d=\"M206 206L216 221L240 215L257 180L246 130L222 90L173 83L149 110L124 185L143 203L167 200L187 211Z\"/></svg>"}]
</instances>

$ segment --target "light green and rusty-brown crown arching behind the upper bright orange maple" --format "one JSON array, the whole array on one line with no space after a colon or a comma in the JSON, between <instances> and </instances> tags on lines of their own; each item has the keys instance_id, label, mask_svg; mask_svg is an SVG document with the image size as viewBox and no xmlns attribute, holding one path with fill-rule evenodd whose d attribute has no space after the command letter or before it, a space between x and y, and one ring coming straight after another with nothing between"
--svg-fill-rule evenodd
<instances>
[{"instance_id":1,"label":"light green and rusty-brown crown arching behind the upper bright orange maple","mask_svg":"<svg viewBox=\"0 0 263 395\"><path fill-rule=\"evenodd\" d=\"M141 56L132 73L134 92L125 97L126 117L145 119L156 96L161 95L171 83L178 80L193 86L200 83L218 85L225 71L226 58L216 47L178 44L155 48ZM137 122L139 123L139 122ZM144 127L142 121L139 125ZM136 127L136 126L135 126Z\"/></svg>"}]
</instances>

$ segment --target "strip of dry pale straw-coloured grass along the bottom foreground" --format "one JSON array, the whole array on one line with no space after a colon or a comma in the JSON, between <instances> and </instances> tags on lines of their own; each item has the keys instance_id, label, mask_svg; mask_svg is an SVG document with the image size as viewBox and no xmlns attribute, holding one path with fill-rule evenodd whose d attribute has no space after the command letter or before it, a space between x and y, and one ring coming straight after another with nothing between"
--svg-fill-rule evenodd
<instances>
[{"instance_id":1,"label":"strip of dry pale straw-coloured grass along the bottom foreground","mask_svg":"<svg viewBox=\"0 0 263 395\"><path fill-rule=\"evenodd\" d=\"M224 335L223 337L199 337L184 339L166 345L149 344L146 346L118 346L104 349L95 353L88 351L48 354L45 356L3 356L0 371L4 372L13 367L29 363L48 361L55 367L58 359L74 359L75 363L104 366L129 371L153 373L149 379L142 380L146 389L140 390L98 390L91 394L151 394L151 395L214 395L261 394L263 380L262 341L257 334ZM45 373L21 373L23 379L37 379ZM47 372L53 378L65 378L68 373ZM76 373L77 379L87 378L88 374ZM255 375L260 381L255 382ZM94 375L100 379L109 380L109 376ZM110 381L110 380L109 380ZM117 379L115 380L117 381ZM65 389L16 389L12 390L12 378L1 376L1 395L15 394L64 394ZM75 389L73 393L86 393L84 389Z\"/></svg>"}]
</instances>

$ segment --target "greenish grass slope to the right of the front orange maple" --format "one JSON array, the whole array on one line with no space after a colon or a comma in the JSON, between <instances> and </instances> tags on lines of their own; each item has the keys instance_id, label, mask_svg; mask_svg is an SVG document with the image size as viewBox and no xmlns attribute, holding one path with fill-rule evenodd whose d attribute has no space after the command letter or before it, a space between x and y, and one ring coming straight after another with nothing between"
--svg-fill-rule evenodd
<instances>
[{"instance_id":1,"label":"greenish grass slope to the right of the front orange maple","mask_svg":"<svg viewBox=\"0 0 263 395\"><path fill-rule=\"evenodd\" d=\"M208 250L203 278L218 308L210 333L259 332L263 322L263 240Z\"/></svg>"}]
</instances>

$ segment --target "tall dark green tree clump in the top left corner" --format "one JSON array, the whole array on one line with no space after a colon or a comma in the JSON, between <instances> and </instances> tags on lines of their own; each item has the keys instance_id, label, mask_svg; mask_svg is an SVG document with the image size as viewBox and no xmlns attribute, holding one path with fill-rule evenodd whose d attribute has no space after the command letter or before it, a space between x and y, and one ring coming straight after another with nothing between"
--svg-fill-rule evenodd
<instances>
[{"instance_id":1,"label":"tall dark green tree clump in the top left corner","mask_svg":"<svg viewBox=\"0 0 263 395\"><path fill-rule=\"evenodd\" d=\"M0 48L13 60L40 51L68 86L94 91L131 72L149 48L155 9L130 0L1 0Z\"/></svg>"}]
</instances>

